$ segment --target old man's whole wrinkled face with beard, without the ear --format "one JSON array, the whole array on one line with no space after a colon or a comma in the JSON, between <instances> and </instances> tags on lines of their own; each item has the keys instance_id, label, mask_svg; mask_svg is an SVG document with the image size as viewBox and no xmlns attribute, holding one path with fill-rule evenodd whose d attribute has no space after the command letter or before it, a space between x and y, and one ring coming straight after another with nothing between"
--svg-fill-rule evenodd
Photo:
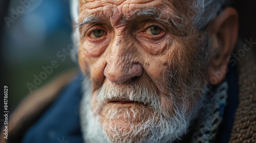
<instances>
[{"instance_id":1,"label":"old man's whole wrinkled face with beard, without the ear","mask_svg":"<svg viewBox=\"0 0 256 143\"><path fill-rule=\"evenodd\" d=\"M155 141L175 140L187 130L180 124L201 94L205 65L203 38L186 8L163 0L80 1L79 64L91 80L91 110L112 141L150 140L164 129L175 138Z\"/></svg>"}]
</instances>

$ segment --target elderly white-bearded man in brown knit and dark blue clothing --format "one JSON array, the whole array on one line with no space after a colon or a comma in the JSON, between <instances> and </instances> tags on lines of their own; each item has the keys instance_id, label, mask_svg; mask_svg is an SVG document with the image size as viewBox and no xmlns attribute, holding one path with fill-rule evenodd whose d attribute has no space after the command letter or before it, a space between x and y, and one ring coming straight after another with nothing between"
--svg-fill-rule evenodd
<instances>
[{"instance_id":1,"label":"elderly white-bearded man in brown knit and dark blue clothing","mask_svg":"<svg viewBox=\"0 0 256 143\"><path fill-rule=\"evenodd\" d=\"M82 95L81 76L52 93L60 96L26 127L23 142L256 141L255 42L234 52L238 13L228 2L73 0L72 7Z\"/></svg>"}]
</instances>

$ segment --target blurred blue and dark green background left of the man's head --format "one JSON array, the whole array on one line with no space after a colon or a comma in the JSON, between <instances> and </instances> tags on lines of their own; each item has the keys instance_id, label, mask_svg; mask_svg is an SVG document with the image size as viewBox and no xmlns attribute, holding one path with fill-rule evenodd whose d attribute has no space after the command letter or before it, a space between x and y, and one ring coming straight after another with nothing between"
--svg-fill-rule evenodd
<instances>
[{"instance_id":1,"label":"blurred blue and dark green background left of the man's head","mask_svg":"<svg viewBox=\"0 0 256 143\"><path fill-rule=\"evenodd\" d=\"M53 60L59 64L37 88L76 64L70 56L64 61L57 57L58 51L72 44L72 19L68 0L8 3L3 22L3 37L0 39L4 63L1 67L5 68L4 85L9 87L9 108L14 108L30 93L27 83L33 84L34 75L39 76L44 71L42 66L51 65Z\"/></svg>"}]
</instances>

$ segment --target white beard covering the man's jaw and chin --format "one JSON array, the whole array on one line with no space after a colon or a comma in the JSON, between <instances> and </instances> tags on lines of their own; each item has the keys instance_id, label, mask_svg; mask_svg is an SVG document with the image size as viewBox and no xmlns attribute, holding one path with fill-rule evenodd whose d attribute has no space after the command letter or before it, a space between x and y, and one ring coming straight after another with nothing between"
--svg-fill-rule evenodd
<instances>
[{"instance_id":1,"label":"white beard covering the man's jaw and chin","mask_svg":"<svg viewBox=\"0 0 256 143\"><path fill-rule=\"evenodd\" d=\"M175 107L172 111L172 114L166 116L166 113L161 110L161 104L158 103L159 106L154 107L155 110L152 113L151 117L148 117L145 121L137 125L133 126L131 124L131 126L129 126L130 131L126 134L122 134L118 125L114 125L113 123L100 123L99 115L97 114L97 112L92 111L92 94L90 85L91 84L88 79L84 81L83 87L85 89L80 106L82 136L84 138L84 141L86 142L173 142L177 139L180 139L183 135L186 134L186 132L188 131L188 127L190 126L191 120L193 120L195 116L197 116L199 109L202 106L205 106L204 104L202 104L204 103L203 101L206 97L204 96L204 93L202 94L202 97L199 99L199 101L195 102L195 106L188 113L187 105L180 105L176 103L173 105ZM117 98L116 95L119 93L113 93L115 90L116 89L100 89L98 101L104 101L105 99L110 98ZM134 96L132 96L131 93L130 95L130 99L132 98L133 100L135 100L133 98ZM135 93L134 95L138 94ZM142 97L145 96L143 95ZM137 101L140 101L140 99L138 98ZM152 107L156 106L155 104L156 103L154 103ZM156 110L156 108L158 108L159 110ZM136 118L140 117L141 112L143 113L147 111L146 107L141 107L137 110L134 110L132 108L121 109L121 107L117 107L114 109L110 109L108 114L106 114L106 117L108 117L109 121L115 120L116 118L120 117L120 110L122 110L122 113L125 113L125 115L131 116L128 118L128 120L131 121L137 120ZM131 115L131 113L133 115ZM123 114L121 115L124 116ZM106 127L108 127L107 130ZM108 134L111 134L112 138L110 138ZM139 138L136 136L139 136Z\"/></svg>"}]
</instances>

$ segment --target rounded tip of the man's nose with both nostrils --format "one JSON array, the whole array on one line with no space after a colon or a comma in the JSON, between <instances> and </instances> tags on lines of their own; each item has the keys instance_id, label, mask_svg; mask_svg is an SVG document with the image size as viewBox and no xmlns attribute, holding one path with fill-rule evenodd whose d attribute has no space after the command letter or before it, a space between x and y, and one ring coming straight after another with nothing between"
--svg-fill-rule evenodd
<instances>
[{"instance_id":1,"label":"rounded tip of the man's nose with both nostrils","mask_svg":"<svg viewBox=\"0 0 256 143\"><path fill-rule=\"evenodd\" d=\"M142 66L134 63L131 66L124 64L108 64L104 69L104 76L114 83L123 83L133 77L140 77Z\"/></svg>"}]
</instances>

